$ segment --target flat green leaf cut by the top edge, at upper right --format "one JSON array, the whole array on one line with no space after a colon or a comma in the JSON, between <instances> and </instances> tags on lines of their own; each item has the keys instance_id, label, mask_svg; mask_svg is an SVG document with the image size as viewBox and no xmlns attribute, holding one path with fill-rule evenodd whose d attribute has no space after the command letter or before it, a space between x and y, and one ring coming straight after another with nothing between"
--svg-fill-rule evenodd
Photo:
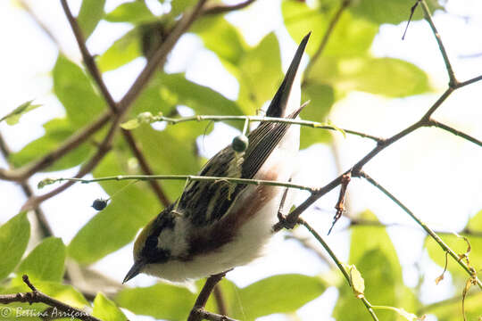
<instances>
[{"instance_id":1,"label":"flat green leaf cut by the top edge, at upper right","mask_svg":"<svg viewBox=\"0 0 482 321\"><path fill-rule=\"evenodd\" d=\"M436 0L428 0L427 2L430 12L443 8ZM353 14L377 24L398 24L402 21L408 21L413 4L415 3L410 3L405 0L363 0L353 2L352 5L349 6L349 9ZM423 19L423 11L420 5L417 7L417 10L415 10L411 19L413 21Z\"/></svg>"}]
</instances>

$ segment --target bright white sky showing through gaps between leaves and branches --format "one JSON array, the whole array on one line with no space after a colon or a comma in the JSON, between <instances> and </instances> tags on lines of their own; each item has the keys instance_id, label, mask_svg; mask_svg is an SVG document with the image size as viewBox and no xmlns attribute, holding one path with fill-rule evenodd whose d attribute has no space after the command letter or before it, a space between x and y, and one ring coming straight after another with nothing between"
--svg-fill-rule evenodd
<instances>
[{"instance_id":1,"label":"bright white sky showing through gaps between leaves and branches","mask_svg":"<svg viewBox=\"0 0 482 321\"><path fill-rule=\"evenodd\" d=\"M240 28L249 44L256 44L266 33L275 30L280 39L285 70L295 52L295 42L282 28L281 12L273 10L279 0L259 0L248 10L229 14L228 20ZM71 59L79 62L79 52L64 18L59 1L29 1L37 15L45 22L54 37L60 39L62 51ZM79 10L80 1L70 1L74 12ZM108 0L106 11L112 10L120 1ZM153 7L156 0L148 1ZM235 3L230 1L230 3ZM275 5L276 4L276 5ZM482 2L478 0L449 1L448 13L437 12L434 21L453 62L459 80L482 74L482 55L476 58L461 58L462 55L482 53ZM407 9L408 15L408 9ZM469 19L465 17L470 16ZM247 23L249 22L249 23ZM404 99L386 99L364 93L353 93L338 102L330 119L342 128L351 128L375 136L392 136L420 119L438 96L445 90L448 82L444 63L428 24L424 21L413 22L407 38L401 36L405 25L382 26L372 53L375 56L396 57L413 62L426 70L436 88L436 92ZM19 151L30 140L42 136L42 124L48 119L62 116L61 104L52 95L50 71L54 66L57 49L46 34L37 28L29 15L22 12L12 1L0 2L0 29L3 50L0 52L0 115L6 114L25 101L35 99L43 106L22 117L20 124L9 127L0 124L0 132L13 151ZM102 53L112 41L129 30L128 25L112 25L101 22L96 33L87 45L93 53ZM312 35L321 37L322 35ZM231 99L237 98L237 81L222 69L216 56L202 47L202 42L193 35L181 38L170 56L166 67L169 72L187 70L187 78L202 85L212 86ZM104 75L114 97L120 96L129 87L134 75L144 66L142 59ZM212 77L205 77L208 66ZM130 79L130 80L129 80ZM482 83L464 87L456 91L438 111L434 118L458 128L471 136L482 137ZM314 106L309 106L313 108ZM322 119L312 119L322 120ZM221 134L221 135L220 135ZM212 156L224 145L229 144L236 131L222 124L205 137L204 154ZM337 150L340 155L341 169L348 169L355 161L370 151L373 144L358 137L346 139L337 135ZM437 128L424 128L403 138L402 141L381 152L366 165L365 170L377 179L390 192L415 212L428 226L437 230L453 231L465 226L467 220L482 210L482 149L452 134ZM0 166L5 167L3 159ZM77 169L66 170L48 175L35 175L32 186L44 177L70 177ZM315 145L301 152L297 180L305 185L321 186L337 176L337 166L326 145ZM168 174L168 173L159 173ZM44 193L44 191L42 191ZM422 289L423 301L433 302L453 295L455 289L449 282L435 285L433 280L442 271L428 259L420 244L425 235L415 226L403 211L378 193L367 183L353 179L348 188L350 210L356 213L370 209L386 224L398 223L405 227L389 227L397 254L403 263L403 279L414 286L418 279L419 264L426 275ZM21 208L25 197L20 187L0 181L0 222L12 218ZM73 235L96 211L90 207L94 199L105 196L96 185L74 185L65 193L42 205L51 222L55 235L69 243ZM306 194L299 193L298 202ZM326 235L335 210L337 192L323 197L317 206L320 210L307 210L303 217L315 226L321 235ZM154 213L153 213L154 214ZM337 252L340 259L348 257L348 237L345 230L347 220L342 218L332 235L325 236L328 244ZM311 253L300 251L293 241L282 241L282 235L275 237L268 255L244 268L236 268L229 278L239 285L250 284L262 277L288 272L316 275L327 267ZM112 278L121 281L131 265L132 245L109 255L96 263L95 267ZM284 253L290 253L287 259ZM448 278L450 279L450 278ZM154 278L138 276L129 285L153 284ZM458 289L457 291L459 291ZM328 291L318 300L304 307L300 315L309 319L316 314L320 319L328 318L337 297L336 289ZM331 299L328 299L331 298ZM322 315L320 315L322 313ZM324 317L323 317L324 316ZM283 319L270 317L270 320ZM428 318L434 320L435 318Z\"/></svg>"}]
</instances>

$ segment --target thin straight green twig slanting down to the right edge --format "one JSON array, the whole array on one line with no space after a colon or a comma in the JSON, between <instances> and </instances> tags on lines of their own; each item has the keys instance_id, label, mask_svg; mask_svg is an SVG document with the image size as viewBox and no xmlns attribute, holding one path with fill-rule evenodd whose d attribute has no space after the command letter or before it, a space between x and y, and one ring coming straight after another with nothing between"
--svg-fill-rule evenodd
<instances>
[{"instance_id":1,"label":"thin straight green twig slanting down to the right edge","mask_svg":"<svg viewBox=\"0 0 482 321\"><path fill-rule=\"evenodd\" d=\"M353 175L354 177L354 175ZM438 245L440 245L440 247L445 251L445 252L448 252L450 254L451 257L453 257L453 259L455 259L455 261L461 266L461 268L463 268L471 277L473 277L477 284L478 284L478 287L480 289L482 289L482 283L480 282L480 280L478 279L477 277L477 272L474 270L474 268L470 268L462 259L459 258L459 255L457 255L457 253L455 253L441 238L440 236L436 235L436 233L430 228L428 227L424 222L422 222L420 220L419 217L417 217L411 210L409 210L404 204L403 202L400 202L392 193L388 192L385 187L383 187L382 185L379 185L378 182L376 180L374 180L373 178L371 178L367 173L363 172L363 171L360 171L357 175L357 177L363 177L365 178L371 185L374 185L375 187L378 188L378 190L380 190L380 192L386 194L386 196L392 200L393 202L395 202L395 204L397 204L400 208L402 208L402 210L404 210L411 218L413 218L417 224L422 227L425 232L428 233L428 235L430 235L434 241L436 243L438 243Z\"/></svg>"}]
</instances>

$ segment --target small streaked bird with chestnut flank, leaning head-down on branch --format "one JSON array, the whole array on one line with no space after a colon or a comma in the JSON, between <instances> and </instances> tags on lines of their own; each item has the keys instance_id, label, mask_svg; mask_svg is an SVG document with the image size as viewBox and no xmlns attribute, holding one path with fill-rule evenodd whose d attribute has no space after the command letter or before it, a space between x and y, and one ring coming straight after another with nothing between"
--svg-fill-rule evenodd
<instances>
[{"instance_id":1,"label":"small streaked bird with chestnut flank, leaning head-down on branch","mask_svg":"<svg viewBox=\"0 0 482 321\"><path fill-rule=\"evenodd\" d=\"M300 62L311 33L303 37L267 117L296 119L301 102ZM237 152L229 144L207 161L199 176L286 182L293 175L299 125L262 121ZM144 273L183 283L244 266L262 255L278 221L285 188L188 181L176 202L151 220L134 243L134 264L123 283Z\"/></svg>"}]
</instances>

